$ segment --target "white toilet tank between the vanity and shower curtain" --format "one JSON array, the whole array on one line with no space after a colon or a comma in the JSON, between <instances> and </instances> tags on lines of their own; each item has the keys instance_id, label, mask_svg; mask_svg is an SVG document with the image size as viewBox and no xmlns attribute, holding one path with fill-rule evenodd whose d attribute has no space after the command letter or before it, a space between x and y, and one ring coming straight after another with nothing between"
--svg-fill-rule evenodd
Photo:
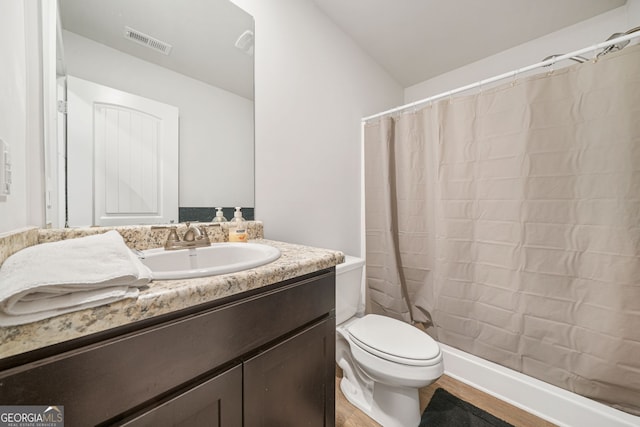
<instances>
[{"instance_id":1,"label":"white toilet tank between the vanity and shower curtain","mask_svg":"<svg viewBox=\"0 0 640 427\"><path fill-rule=\"evenodd\" d=\"M362 272L364 259L345 256L336 265L336 324L356 315L363 298Z\"/></svg>"}]
</instances>

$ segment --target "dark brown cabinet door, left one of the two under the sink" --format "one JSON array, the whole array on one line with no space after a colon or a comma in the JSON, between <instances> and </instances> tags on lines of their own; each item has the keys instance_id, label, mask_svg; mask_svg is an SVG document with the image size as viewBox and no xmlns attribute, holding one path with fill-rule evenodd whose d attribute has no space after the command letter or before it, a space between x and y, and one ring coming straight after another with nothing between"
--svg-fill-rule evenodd
<instances>
[{"instance_id":1,"label":"dark brown cabinet door, left one of the two under the sink","mask_svg":"<svg viewBox=\"0 0 640 427\"><path fill-rule=\"evenodd\" d=\"M127 427L241 426L242 365L171 397L159 406L135 415L118 425Z\"/></svg>"}]
</instances>

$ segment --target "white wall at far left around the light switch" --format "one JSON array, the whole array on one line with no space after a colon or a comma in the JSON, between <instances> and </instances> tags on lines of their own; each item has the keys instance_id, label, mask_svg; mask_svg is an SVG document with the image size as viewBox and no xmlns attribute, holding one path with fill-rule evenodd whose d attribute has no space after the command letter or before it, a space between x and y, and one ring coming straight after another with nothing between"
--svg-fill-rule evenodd
<instances>
[{"instance_id":1,"label":"white wall at far left around the light switch","mask_svg":"<svg viewBox=\"0 0 640 427\"><path fill-rule=\"evenodd\" d=\"M3 2L0 13L0 138L13 181L0 196L0 233L44 223L38 13L35 0Z\"/></svg>"}]
</instances>

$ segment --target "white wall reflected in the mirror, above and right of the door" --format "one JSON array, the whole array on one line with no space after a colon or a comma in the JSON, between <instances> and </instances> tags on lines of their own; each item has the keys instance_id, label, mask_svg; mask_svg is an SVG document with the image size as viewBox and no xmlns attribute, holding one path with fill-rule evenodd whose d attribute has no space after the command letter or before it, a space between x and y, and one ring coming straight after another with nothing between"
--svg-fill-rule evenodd
<instances>
[{"instance_id":1,"label":"white wall reflected in the mirror, above and right of the door","mask_svg":"<svg viewBox=\"0 0 640 427\"><path fill-rule=\"evenodd\" d=\"M253 206L253 101L63 31L67 73L180 110L180 206Z\"/></svg>"}]
</instances>

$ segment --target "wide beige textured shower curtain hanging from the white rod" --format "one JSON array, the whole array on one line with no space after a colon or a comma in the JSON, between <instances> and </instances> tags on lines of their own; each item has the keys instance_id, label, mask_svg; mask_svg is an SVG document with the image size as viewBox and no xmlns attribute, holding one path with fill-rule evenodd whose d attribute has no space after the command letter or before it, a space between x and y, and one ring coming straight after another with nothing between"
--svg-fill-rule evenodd
<instances>
[{"instance_id":1,"label":"wide beige textured shower curtain hanging from the white rod","mask_svg":"<svg viewBox=\"0 0 640 427\"><path fill-rule=\"evenodd\" d=\"M640 46L370 123L365 174L372 311L640 414Z\"/></svg>"}]
</instances>

